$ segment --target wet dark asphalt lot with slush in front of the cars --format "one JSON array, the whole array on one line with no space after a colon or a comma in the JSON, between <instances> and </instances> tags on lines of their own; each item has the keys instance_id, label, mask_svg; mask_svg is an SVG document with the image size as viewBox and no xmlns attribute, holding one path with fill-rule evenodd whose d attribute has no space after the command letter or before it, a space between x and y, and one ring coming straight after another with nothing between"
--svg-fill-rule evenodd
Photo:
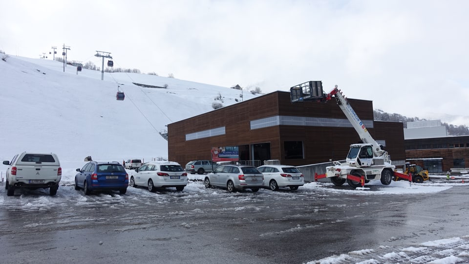
<instances>
[{"instance_id":1,"label":"wet dark asphalt lot with slush in front of the cars","mask_svg":"<svg viewBox=\"0 0 469 264\"><path fill-rule=\"evenodd\" d=\"M371 186L370 193L385 186ZM13 263L306 263L380 245L469 235L469 186L430 194L353 188L249 190L191 182L183 192L57 196L0 184L0 255Z\"/></svg>"}]
</instances>

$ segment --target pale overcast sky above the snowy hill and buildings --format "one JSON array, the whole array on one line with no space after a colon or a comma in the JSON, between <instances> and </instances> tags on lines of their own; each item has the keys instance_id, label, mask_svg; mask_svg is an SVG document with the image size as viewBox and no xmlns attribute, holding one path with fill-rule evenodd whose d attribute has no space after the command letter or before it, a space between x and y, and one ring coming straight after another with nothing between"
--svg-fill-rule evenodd
<instances>
[{"instance_id":1,"label":"pale overcast sky above the snowy hill and buildings","mask_svg":"<svg viewBox=\"0 0 469 264\"><path fill-rule=\"evenodd\" d=\"M309 80L407 117L469 125L468 0L0 0L0 49L220 86ZM457 122L457 121L456 121ZM454 124L461 124L454 123Z\"/></svg>"}]
</instances>

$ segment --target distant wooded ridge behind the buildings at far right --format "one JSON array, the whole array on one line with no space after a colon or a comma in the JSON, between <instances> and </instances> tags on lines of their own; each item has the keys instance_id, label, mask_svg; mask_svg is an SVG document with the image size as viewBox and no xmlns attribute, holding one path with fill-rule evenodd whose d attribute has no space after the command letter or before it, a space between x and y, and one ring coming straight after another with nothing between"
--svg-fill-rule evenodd
<instances>
[{"instance_id":1,"label":"distant wooded ridge behind the buildings at far right","mask_svg":"<svg viewBox=\"0 0 469 264\"><path fill-rule=\"evenodd\" d=\"M373 110L373 115L374 115L374 120L376 121L403 122L404 128L407 128L407 122L427 120L427 119L421 119L418 117L409 118L409 117L405 117L403 115L396 114L396 113L389 114L380 109ZM469 128L466 125L453 125L453 124L448 124L446 122L442 122L442 125L446 126L448 135L450 136L469 135Z\"/></svg>"}]
</instances>

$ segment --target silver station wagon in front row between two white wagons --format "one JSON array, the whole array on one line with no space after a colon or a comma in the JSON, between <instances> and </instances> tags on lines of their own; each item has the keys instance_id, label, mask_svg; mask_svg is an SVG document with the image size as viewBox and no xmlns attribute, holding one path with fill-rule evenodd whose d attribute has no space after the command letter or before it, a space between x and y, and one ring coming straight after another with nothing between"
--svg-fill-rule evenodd
<instances>
[{"instance_id":1,"label":"silver station wagon in front row between two white wagons","mask_svg":"<svg viewBox=\"0 0 469 264\"><path fill-rule=\"evenodd\" d=\"M264 176L254 166L223 165L207 174L204 179L205 187L218 186L227 188L229 192L236 189L251 189L256 192L264 184Z\"/></svg>"}]
</instances>

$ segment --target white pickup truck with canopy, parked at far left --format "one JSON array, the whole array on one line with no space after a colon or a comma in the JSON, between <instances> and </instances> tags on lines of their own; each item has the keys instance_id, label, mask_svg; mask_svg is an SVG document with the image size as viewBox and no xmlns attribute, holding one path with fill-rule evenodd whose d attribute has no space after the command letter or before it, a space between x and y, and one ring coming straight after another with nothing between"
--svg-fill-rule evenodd
<instances>
[{"instance_id":1,"label":"white pickup truck with canopy, parked at far left","mask_svg":"<svg viewBox=\"0 0 469 264\"><path fill-rule=\"evenodd\" d=\"M57 194L62 168L56 154L23 152L3 164L9 165L5 184L7 196L13 196L16 188L49 188L51 196Z\"/></svg>"}]
</instances>

